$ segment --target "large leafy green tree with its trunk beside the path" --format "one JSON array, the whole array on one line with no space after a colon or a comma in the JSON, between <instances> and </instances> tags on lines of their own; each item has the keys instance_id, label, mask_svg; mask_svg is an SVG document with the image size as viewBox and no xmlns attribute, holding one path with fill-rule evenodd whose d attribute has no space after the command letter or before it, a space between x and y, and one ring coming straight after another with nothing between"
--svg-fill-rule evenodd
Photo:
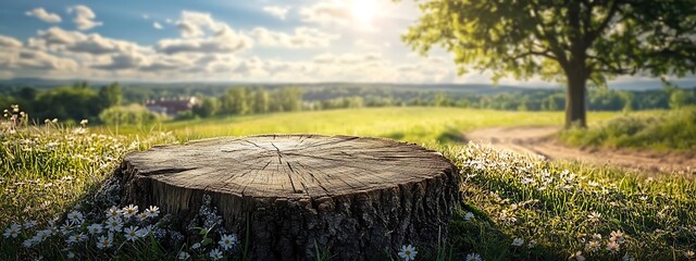
<instances>
[{"instance_id":1,"label":"large leafy green tree with its trunk beside the path","mask_svg":"<svg viewBox=\"0 0 696 261\"><path fill-rule=\"evenodd\" d=\"M403 40L442 46L458 72L567 85L566 126L586 125L586 86L696 71L696 0L424 0Z\"/></svg>"}]
</instances>

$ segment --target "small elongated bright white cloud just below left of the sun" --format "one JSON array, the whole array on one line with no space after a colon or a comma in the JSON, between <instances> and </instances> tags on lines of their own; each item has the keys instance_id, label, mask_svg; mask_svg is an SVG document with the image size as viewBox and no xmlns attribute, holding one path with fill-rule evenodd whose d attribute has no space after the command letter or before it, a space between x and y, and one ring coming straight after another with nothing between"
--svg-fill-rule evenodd
<instances>
[{"instance_id":1,"label":"small elongated bright white cloud just below left of the sun","mask_svg":"<svg viewBox=\"0 0 696 261\"><path fill-rule=\"evenodd\" d=\"M250 35L260 46L283 48L318 48L327 47L340 36L323 33L315 28L298 27L293 34L273 32L257 27Z\"/></svg>"}]
</instances>

